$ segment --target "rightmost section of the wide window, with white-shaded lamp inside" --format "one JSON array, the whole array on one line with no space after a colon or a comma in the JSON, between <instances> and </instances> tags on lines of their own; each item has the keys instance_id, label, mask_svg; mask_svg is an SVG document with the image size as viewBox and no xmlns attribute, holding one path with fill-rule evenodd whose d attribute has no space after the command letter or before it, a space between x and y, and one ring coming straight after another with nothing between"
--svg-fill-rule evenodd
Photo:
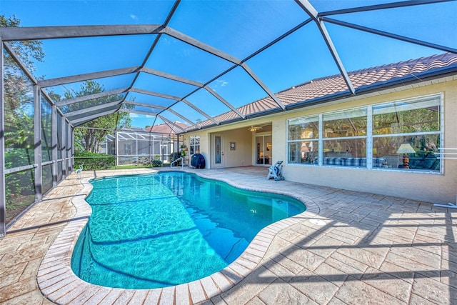
<instances>
[{"instance_id":1,"label":"rightmost section of the wide window, with white-shaded lamp inside","mask_svg":"<svg viewBox=\"0 0 457 305\"><path fill-rule=\"evenodd\" d=\"M373 106L373 158L392 169L440 170L441 97Z\"/></svg>"}]
</instances>

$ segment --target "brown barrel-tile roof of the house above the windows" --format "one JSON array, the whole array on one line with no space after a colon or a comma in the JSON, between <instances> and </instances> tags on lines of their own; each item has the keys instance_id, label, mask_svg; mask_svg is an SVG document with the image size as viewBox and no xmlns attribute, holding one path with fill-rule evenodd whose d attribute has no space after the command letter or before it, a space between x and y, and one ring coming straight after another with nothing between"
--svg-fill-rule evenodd
<instances>
[{"instance_id":1,"label":"brown barrel-tile roof of the house above the windows","mask_svg":"<svg viewBox=\"0 0 457 305\"><path fill-rule=\"evenodd\" d=\"M457 54L443 53L420 59L400 61L393 64L375 66L373 68L361 69L348 72L349 79L356 94L363 94L368 91L386 89L388 86L404 85L405 82L420 82L422 77L430 74L438 74L446 69L453 69L457 72ZM331 96L338 96L339 99L351 96L346 82L341 74L313 79L303 84L293 86L290 89L278 92L276 96L287 108L293 106L305 106L306 101L326 101ZM253 101L238 108L245 116L258 114L264 111L279 109L278 105L267 96L258 101ZM216 121L233 121L239 119L234 111L229 111L214 117ZM201 127L212 125L211 121L201 122ZM188 129L191 130L191 129Z\"/></svg>"}]
</instances>

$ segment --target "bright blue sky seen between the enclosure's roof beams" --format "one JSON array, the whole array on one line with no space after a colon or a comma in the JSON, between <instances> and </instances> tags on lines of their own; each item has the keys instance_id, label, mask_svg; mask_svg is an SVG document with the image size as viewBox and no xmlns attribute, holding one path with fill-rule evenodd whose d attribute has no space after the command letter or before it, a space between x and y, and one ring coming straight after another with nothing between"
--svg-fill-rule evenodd
<instances>
[{"instance_id":1,"label":"bright blue sky seen between the enclosure's roof beams","mask_svg":"<svg viewBox=\"0 0 457 305\"><path fill-rule=\"evenodd\" d=\"M311 4L318 11L326 11L386 2L389 1L316 0ZM0 0L0 14L16 15L21 19L21 26L162 24L173 4L174 1L146 0ZM457 3L448 2L331 18L457 49L456 16ZM305 12L294 1L182 1L169 26L238 59L245 59L306 18ZM442 53L333 24L327 23L326 26L347 71ZM50 79L139 66L155 38L155 35L141 35L46 40L43 46L46 58L44 63L36 63L36 76ZM246 64L273 92L318 77L338 74L331 54L312 22L249 59ZM146 62L146 67L151 69L202 83L232 65L229 61L166 35L161 36ZM111 90L130 86L132 79L132 76L117 76L99 82L106 90ZM174 96L185 96L195 89L174 81L159 80L149 74L141 74L134 86ZM215 79L209 87L236 107L266 96L265 91L240 67ZM68 84L66 88L78 90L79 84ZM59 92L64 89L54 90ZM204 90L196 91L187 99L211 116L227 111L226 106ZM149 99L136 96L135 100L148 102ZM177 104L172 109L194 121L206 119L186 105ZM179 119L173 114L164 116L171 121ZM151 123L150 117L135 115L134 126Z\"/></svg>"}]
</instances>

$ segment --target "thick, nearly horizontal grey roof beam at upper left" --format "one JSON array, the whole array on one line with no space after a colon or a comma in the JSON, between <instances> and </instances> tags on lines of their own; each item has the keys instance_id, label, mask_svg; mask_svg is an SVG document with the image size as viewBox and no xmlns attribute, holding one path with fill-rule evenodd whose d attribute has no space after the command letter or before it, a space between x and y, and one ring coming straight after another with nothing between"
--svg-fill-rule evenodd
<instances>
[{"instance_id":1,"label":"thick, nearly horizontal grey roof beam at upper left","mask_svg":"<svg viewBox=\"0 0 457 305\"><path fill-rule=\"evenodd\" d=\"M123 24L97 26L21 26L1 27L4 41L44 40L76 37L159 34L161 24Z\"/></svg>"}]
</instances>

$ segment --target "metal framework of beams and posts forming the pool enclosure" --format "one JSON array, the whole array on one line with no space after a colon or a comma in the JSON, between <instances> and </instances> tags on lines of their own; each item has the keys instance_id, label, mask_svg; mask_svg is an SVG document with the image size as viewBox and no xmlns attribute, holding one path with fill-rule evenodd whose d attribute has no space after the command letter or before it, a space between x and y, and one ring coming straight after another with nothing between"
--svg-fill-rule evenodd
<instances>
[{"instance_id":1,"label":"metal framework of beams and posts forming the pool enclosure","mask_svg":"<svg viewBox=\"0 0 457 305\"><path fill-rule=\"evenodd\" d=\"M298 107L305 106L304 101L303 103L297 103L293 105L284 104L283 101L278 99L278 96L273 93L273 91L268 88L265 82L255 74L253 69L248 66L247 61L252 59L253 57L261 54L262 51L274 46L279 41L286 39L286 37L293 35L299 29L302 29L304 26L310 23L316 24L318 31L320 33L320 38L325 43L326 48L331 54L333 58L333 64L336 65L338 71L340 71L343 79L346 83L347 90L344 92L346 95L356 95L361 94L366 91L357 91L353 84L351 83L351 79L349 79L348 73L346 71L346 67L344 66L343 62L341 61L338 55L338 49L333 44L331 34L328 33L326 29L326 24L333 24L336 26L341 26L349 29L354 29L357 31L363 31L369 34L387 37L388 39L395 39L398 41L403 41L409 44L416 44L418 46L426 46L428 48L451 52L457 54L457 49L453 46L446 46L440 44L434 44L429 41L423 41L419 39L413 39L408 36L398 35L394 33L390 33L387 31L381 31L378 29L372 29L368 26L361 26L358 24L353 24L346 21L339 21L337 19L331 18L331 16L342 15L342 14L352 14L352 13L359 13L363 11L377 11L383 9L395 9L401 7L408 7L408 6L426 6L427 4L438 4L441 2L447 1L454 1L454 0L409 0L409 1L397 1L388 4L376 4L371 6L360 6L354 7L349 9L338 9L333 11L318 11L316 10L313 5L311 5L310 1L308 0L293 0L294 4L296 4L297 9L303 10L307 16L300 24L294 26L292 29L288 29L285 33L278 35L264 46L253 51L251 54L248 54L243 59L238 59L233 54L228 54L225 51L221 51L216 49L214 46L204 43L203 41L199 41L194 37L188 36L176 29L173 29L169 26L171 19L176 16L176 10L178 9L179 5L181 4L180 0L176 0L171 7L170 11L166 18L164 18L163 24L131 24L131 25L96 25L96 26L30 26L30 27L0 27L0 46L1 46L1 54L0 54L0 238L6 234L6 204L5 204L5 175L14 173L16 171L22 171L26 169L35 169L35 199L36 201L41 200L42 194L42 186L41 186L41 179L42 179L42 166L46 166L50 164L49 162L41 162L41 97L44 96L46 100L49 101L51 105L51 124L52 124L52 162L53 170L52 170L52 184L55 187L57 184L57 171L59 162L62 165L63 176L66 177L70 174L69 171L73 170L73 150L74 143L73 139L73 129L76 126L80 126L87 121L91 121L92 119L96 119L100 116L104 116L106 114L112 114L116 111L126 111L132 114L148 114L154 116L153 121L156 124L157 119L161 119L167 124L172 130L174 130L177 134L184 134L190 130L197 130L197 129L206 129L213 126L217 126L220 124L227 124L233 121L242 121L248 120L256 116L262 116L264 112L258 111L254 113L246 114L241 111L241 107L234 106L235 101L230 101L224 99L221 94L217 93L214 89L210 88L210 84L217 79L229 74L229 72L233 71L236 68L242 69L248 77L251 78L253 83L255 83L258 88L260 88L268 99L273 101L275 104L274 109L271 111L266 111L268 114L273 114L276 112L282 112L287 110L296 109ZM453 29L449 29L453 30ZM45 40L45 39L74 39L74 38L82 38L82 37L105 37L105 36L125 36L125 35L155 35L154 41L149 46L149 50L147 51L144 58L141 59L141 62L136 63L134 66L127 66L121 69L109 69L106 71L95 71L92 73L86 74L78 74L78 75L67 75L62 76L59 78L54 79L40 79L37 80L31 74L26 66L21 63L19 56L14 51L14 48L11 46L11 42L13 41L28 41L28 40ZM218 75L214 76L211 79L206 79L205 81L197 81L196 79L186 79L184 77L169 74L165 71L158 71L155 69L150 69L146 66L146 62L151 59L151 54L153 54L154 50L159 43L159 39L161 36L169 36L173 39L177 39L184 44L188 44L189 46L193 46L201 51L206 52L210 56L215 56L218 59L224 59L229 63L229 68L225 71L219 73ZM34 149L35 149L35 159L34 164L29 166L21 166L14 169L5 169L5 160L4 160L4 51L6 51L14 61L18 64L19 68L24 71L24 74L30 79L32 85L34 86ZM160 78L169 79L172 81L177 81L180 84L186 84L189 86L194 86L194 90L189 92L188 94L179 95L179 94L165 94L164 92L156 92L151 90L147 87L139 87L136 86L137 79L141 73L151 74ZM113 89L106 92L102 92L99 94L91 94L88 96L79 96L74 99L67 99L64 101L53 101L51 96L46 91L46 88L52 86L59 86L65 84L72 84L79 81L89 81L94 79L102 79L109 76L124 76L124 75L133 75L133 81L129 86L124 86L124 88ZM293 86L295 84L291 84ZM392 84L393 86L394 84ZM215 101L220 105L224 105L229 109L229 113L233 114L229 116L231 119L221 119L221 115L210 116L206 113L203 109L200 109L196 105L192 104L189 101L189 96L195 94L197 91L204 91L205 93L208 92L211 96L214 96ZM368 89L366 89L368 90ZM157 96L159 98L169 99L171 103L168 106L160 106L154 104L147 104L142 101L128 101L126 97L129 93L140 93L146 94L151 96ZM107 96L116 96L118 94L124 94L124 98L118 101L112 101L107 104L102 104L98 106L88 106L85 109L78 109L76 111L62 111L65 106L81 103L85 101L90 101L91 99L100 99ZM323 103L326 102L326 99L313 101L313 104ZM204 122L194 121L193 119L187 117L184 114L171 109L171 107L182 104L186 105L186 107L190 107L194 111L201 114L206 118ZM144 106L151 110L149 111L138 111L135 109L129 109L129 106ZM183 119L189 124L189 128L186 129L182 126L176 125L173 121L169 119L169 116L176 116L180 119ZM57 116L61 116L61 126L57 125ZM73 119L71 119L73 117ZM57 139L57 131L61 129L61 139ZM70 141L67 141L70 138ZM61 141L61 159L58 160L58 151L56 147L57 141ZM70 146L67 144L71 144Z\"/></svg>"}]
</instances>

